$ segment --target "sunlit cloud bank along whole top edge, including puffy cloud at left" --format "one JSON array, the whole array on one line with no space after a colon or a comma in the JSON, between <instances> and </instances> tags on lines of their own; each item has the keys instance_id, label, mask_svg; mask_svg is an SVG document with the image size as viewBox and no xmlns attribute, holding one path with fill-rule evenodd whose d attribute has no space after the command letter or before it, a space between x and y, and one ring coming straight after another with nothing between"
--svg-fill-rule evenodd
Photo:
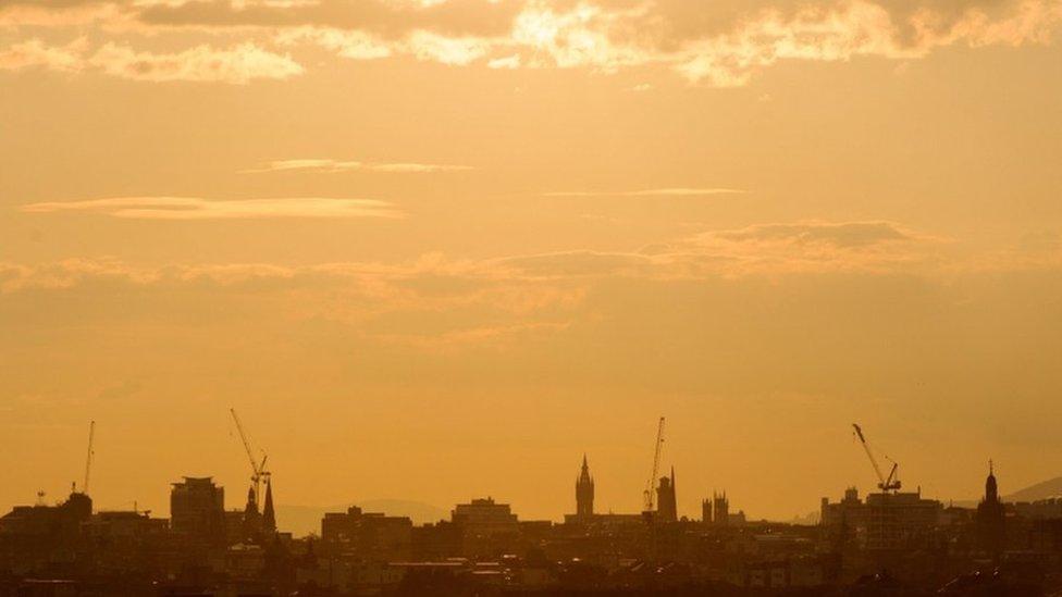
<instances>
[{"instance_id":1,"label":"sunlit cloud bank along whole top edge, including puffy cloud at left","mask_svg":"<svg viewBox=\"0 0 1062 597\"><path fill-rule=\"evenodd\" d=\"M289 57L260 49L275 42L316 46L355 60L408 57L454 66L602 73L650 66L693 84L737 87L782 61L912 60L951 46L1050 43L1062 25L1062 2L11 0L0 9L0 26L28 20L60 27L64 14L70 27L95 23L104 30L141 34L198 29L251 45L157 57L115 46L104 54L126 63L114 73L146 80L169 79L173 75L166 73L174 72L226 82L300 74ZM140 70L147 74L133 76Z\"/></svg>"}]
</instances>

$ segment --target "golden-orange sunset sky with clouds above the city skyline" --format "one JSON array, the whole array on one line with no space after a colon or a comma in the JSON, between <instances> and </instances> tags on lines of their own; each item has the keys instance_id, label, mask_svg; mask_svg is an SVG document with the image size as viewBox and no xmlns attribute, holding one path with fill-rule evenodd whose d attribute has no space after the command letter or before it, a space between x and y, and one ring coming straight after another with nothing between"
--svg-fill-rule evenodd
<instances>
[{"instance_id":1,"label":"golden-orange sunset sky with clouds above the city skyline","mask_svg":"<svg viewBox=\"0 0 1062 597\"><path fill-rule=\"evenodd\" d=\"M2 0L0 509L1062 474L1059 0ZM283 527L283 521L280 521Z\"/></svg>"}]
</instances>

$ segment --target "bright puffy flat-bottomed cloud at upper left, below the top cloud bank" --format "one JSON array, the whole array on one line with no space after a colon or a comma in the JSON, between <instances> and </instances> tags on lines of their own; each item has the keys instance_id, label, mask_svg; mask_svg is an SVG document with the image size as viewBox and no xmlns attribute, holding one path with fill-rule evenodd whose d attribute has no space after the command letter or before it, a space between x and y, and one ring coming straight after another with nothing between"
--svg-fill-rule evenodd
<instances>
[{"instance_id":1,"label":"bright puffy flat-bottomed cloud at upper left, below the top cloud bank","mask_svg":"<svg viewBox=\"0 0 1062 597\"><path fill-rule=\"evenodd\" d=\"M302 74L289 55L263 50L251 42L219 50L196 46L175 53L151 53L106 43L89 60L104 73L151 82L220 82L246 84L256 78L285 79Z\"/></svg>"}]
</instances>

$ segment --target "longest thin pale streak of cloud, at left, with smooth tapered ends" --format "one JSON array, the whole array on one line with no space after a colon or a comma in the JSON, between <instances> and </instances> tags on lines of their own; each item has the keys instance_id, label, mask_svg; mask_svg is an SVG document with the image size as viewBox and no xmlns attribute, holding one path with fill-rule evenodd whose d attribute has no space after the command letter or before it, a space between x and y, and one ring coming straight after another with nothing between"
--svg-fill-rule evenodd
<instances>
[{"instance_id":1,"label":"longest thin pale streak of cloud, at left, with smooth tapered ends","mask_svg":"<svg viewBox=\"0 0 1062 597\"><path fill-rule=\"evenodd\" d=\"M115 197L23 206L27 213L94 212L135 220L247 220L271 217L402 217L372 199L283 198L210 200L197 197Z\"/></svg>"}]
</instances>

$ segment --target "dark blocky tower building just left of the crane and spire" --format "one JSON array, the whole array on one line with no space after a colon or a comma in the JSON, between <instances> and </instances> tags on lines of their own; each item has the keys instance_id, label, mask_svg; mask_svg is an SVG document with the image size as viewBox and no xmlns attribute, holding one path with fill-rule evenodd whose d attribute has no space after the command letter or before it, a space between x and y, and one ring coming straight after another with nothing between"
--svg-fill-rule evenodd
<instances>
[{"instance_id":1,"label":"dark blocky tower building just left of the crane and spire","mask_svg":"<svg viewBox=\"0 0 1062 597\"><path fill-rule=\"evenodd\" d=\"M211 477L184 477L170 489L170 528L209 543L225 539L225 488Z\"/></svg>"}]
</instances>

